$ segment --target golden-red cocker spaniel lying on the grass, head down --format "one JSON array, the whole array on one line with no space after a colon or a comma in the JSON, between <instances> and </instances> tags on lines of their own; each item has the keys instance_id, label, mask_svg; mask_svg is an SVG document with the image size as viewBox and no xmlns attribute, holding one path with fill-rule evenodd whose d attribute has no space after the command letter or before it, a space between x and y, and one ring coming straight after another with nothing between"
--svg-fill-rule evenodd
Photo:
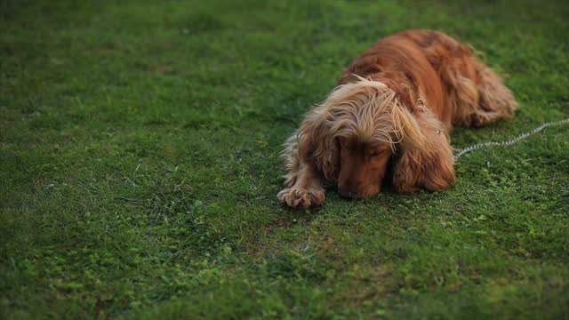
<instances>
[{"instance_id":1,"label":"golden-red cocker spaniel lying on the grass, head down","mask_svg":"<svg viewBox=\"0 0 569 320\"><path fill-rule=\"evenodd\" d=\"M399 193L441 191L455 180L450 133L511 118L517 102L468 45L414 29L381 39L352 61L328 98L286 141L277 195L293 208Z\"/></svg>"}]
</instances>

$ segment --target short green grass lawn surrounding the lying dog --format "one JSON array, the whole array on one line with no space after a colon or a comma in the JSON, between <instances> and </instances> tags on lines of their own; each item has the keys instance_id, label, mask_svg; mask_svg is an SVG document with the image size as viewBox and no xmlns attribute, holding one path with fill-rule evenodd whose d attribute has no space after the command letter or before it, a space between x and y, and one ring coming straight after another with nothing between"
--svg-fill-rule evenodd
<instances>
[{"instance_id":1,"label":"short green grass lawn surrounding the lying dog","mask_svg":"<svg viewBox=\"0 0 569 320\"><path fill-rule=\"evenodd\" d=\"M569 125L443 193L276 201L278 154L382 36L485 52L517 116L569 114L562 1L0 4L0 317L567 318Z\"/></svg>"}]
</instances>

